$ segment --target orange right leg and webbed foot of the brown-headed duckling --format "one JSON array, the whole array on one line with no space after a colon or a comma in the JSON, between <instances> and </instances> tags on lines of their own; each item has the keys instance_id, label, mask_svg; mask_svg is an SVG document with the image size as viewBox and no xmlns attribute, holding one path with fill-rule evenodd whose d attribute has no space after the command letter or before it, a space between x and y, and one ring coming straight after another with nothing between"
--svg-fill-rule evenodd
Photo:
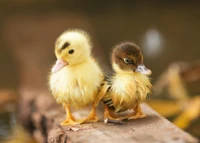
<instances>
[{"instance_id":1,"label":"orange right leg and webbed foot of the brown-headed duckling","mask_svg":"<svg viewBox=\"0 0 200 143\"><path fill-rule=\"evenodd\" d=\"M128 120L139 119L139 118L146 117L146 115L142 112L140 104L137 104L133 110L135 112L134 112L134 114L132 114L132 115L130 115L130 116L127 117Z\"/></svg>"}]
</instances>

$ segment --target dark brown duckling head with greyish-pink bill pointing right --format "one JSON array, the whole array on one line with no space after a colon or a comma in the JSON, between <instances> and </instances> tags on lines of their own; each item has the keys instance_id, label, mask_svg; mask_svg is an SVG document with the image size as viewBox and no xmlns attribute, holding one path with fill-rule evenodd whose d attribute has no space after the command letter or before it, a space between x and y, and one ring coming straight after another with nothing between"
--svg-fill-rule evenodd
<instances>
[{"instance_id":1,"label":"dark brown duckling head with greyish-pink bill pointing right","mask_svg":"<svg viewBox=\"0 0 200 143\"><path fill-rule=\"evenodd\" d=\"M145 75L151 74L151 70L143 64L143 56L139 47L131 42L121 43L113 49L112 66L117 73L140 72Z\"/></svg>"}]
</instances>

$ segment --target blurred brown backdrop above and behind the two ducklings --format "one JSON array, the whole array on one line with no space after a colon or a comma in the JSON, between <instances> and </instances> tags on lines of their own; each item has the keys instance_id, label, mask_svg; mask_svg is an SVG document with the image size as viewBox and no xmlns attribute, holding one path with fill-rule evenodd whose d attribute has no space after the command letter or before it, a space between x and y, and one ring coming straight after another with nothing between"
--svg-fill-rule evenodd
<instances>
[{"instance_id":1,"label":"blurred brown backdrop above and behind the two ducklings","mask_svg":"<svg viewBox=\"0 0 200 143\"><path fill-rule=\"evenodd\" d=\"M107 73L111 49L122 41L141 47L153 83L171 63L200 59L199 1L1 0L0 89L47 89L55 39L68 28L89 32ZM12 115L0 114L0 136L6 136Z\"/></svg>"}]
</instances>

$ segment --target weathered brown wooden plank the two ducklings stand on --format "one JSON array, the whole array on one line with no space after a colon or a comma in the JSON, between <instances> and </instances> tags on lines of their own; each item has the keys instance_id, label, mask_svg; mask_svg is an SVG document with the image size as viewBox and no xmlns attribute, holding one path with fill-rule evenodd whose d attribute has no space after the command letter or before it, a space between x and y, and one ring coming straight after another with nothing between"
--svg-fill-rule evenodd
<instances>
[{"instance_id":1,"label":"weathered brown wooden plank the two ducklings stand on","mask_svg":"<svg viewBox=\"0 0 200 143\"><path fill-rule=\"evenodd\" d=\"M65 119L62 106L57 105L48 92L21 91L19 118L38 142L66 143L197 143L198 140L142 104L144 119L126 121L125 125L105 125L102 108L100 121L76 126L60 126ZM86 116L85 112L75 113Z\"/></svg>"}]
</instances>

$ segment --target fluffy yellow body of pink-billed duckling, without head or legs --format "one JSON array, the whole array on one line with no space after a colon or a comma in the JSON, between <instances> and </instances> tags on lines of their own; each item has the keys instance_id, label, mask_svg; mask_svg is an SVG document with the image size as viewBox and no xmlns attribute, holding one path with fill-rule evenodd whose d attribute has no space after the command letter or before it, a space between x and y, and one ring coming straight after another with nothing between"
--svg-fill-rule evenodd
<instances>
[{"instance_id":1,"label":"fluffy yellow body of pink-billed duckling, without head or legs","mask_svg":"<svg viewBox=\"0 0 200 143\"><path fill-rule=\"evenodd\" d=\"M95 100L102 78L98 65L89 58L81 64L69 65L51 74L49 85L58 103L83 108Z\"/></svg>"}]
</instances>

